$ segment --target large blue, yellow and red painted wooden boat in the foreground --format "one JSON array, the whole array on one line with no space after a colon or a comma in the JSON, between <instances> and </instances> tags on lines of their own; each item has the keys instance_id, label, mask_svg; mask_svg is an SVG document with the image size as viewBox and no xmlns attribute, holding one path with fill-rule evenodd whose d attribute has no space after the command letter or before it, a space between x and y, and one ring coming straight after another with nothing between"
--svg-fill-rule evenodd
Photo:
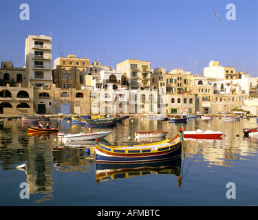
<instances>
[{"instance_id":1,"label":"large blue, yellow and red painted wooden boat in the foreground","mask_svg":"<svg viewBox=\"0 0 258 220\"><path fill-rule=\"evenodd\" d=\"M162 159L180 157L182 153L182 133L171 140L153 144L134 146L105 146L96 144L96 162L103 163L135 163L153 162Z\"/></svg>"}]
</instances>

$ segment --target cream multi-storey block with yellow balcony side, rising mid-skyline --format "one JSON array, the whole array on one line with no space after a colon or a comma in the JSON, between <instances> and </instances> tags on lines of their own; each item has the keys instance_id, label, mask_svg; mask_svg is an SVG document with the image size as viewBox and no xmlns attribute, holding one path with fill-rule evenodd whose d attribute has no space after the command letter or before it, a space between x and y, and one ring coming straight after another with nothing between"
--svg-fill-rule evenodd
<instances>
[{"instance_id":1,"label":"cream multi-storey block with yellow balcony side, rising mid-skyline","mask_svg":"<svg viewBox=\"0 0 258 220\"><path fill-rule=\"evenodd\" d=\"M151 62L128 59L116 65L116 69L122 74L122 85L128 85L129 89L151 88Z\"/></svg>"}]
</instances>

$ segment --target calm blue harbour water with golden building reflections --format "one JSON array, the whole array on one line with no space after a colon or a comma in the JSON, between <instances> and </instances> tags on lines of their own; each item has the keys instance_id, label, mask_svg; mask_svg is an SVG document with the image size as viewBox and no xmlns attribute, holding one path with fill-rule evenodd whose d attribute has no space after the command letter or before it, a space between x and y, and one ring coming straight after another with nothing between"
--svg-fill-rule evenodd
<instances>
[{"instance_id":1,"label":"calm blue harbour water with golden building reflections","mask_svg":"<svg viewBox=\"0 0 258 220\"><path fill-rule=\"evenodd\" d=\"M66 120L51 120L52 126L56 121L59 131L88 132ZM4 120L0 206L257 206L258 140L242 133L257 126L256 118L197 118L184 126L186 131L222 131L223 140L184 140L180 160L125 168L96 165L94 141L64 146L54 134L29 136L21 120ZM173 137L178 127L130 118L93 131L111 131L100 141L124 145L136 144L136 131L169 131L167 137ZM90 148L89 154L85 148ZM17 169L21 164L27 168ZM22 183L28 183L29 198L21 198ZM227 188L228 183L235 188ZM228 190L234 189L235 198L228 198Z\"/></svg>"}]
</instances>

